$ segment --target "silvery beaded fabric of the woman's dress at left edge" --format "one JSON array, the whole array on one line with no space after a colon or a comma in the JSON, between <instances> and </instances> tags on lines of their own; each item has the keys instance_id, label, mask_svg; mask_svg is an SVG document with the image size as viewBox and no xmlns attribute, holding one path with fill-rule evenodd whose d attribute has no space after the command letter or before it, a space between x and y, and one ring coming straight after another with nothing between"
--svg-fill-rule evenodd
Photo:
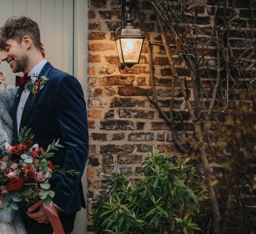
<instances>
[{"instance_id":1,"label":"silvery beaded fabric of the woman's dress at left edge","mask_svg":"<svg viewBox=\"0 0 256 234\"><path fill-rule=\"evenodd\" d=\"M8 127L8 125L4 122L2 117L0 117L0 124L2 125L2 128L4 130L7 142L10 145L12 145L13 144L12 129ZM1 210L0 210L0 212L1 212ZM11 222L0 221L0 234L2 234L2 233L12 233L12 234L26 234L27 233L19 211L14 212L14 218Z\"/></svg>"}]
</instances>

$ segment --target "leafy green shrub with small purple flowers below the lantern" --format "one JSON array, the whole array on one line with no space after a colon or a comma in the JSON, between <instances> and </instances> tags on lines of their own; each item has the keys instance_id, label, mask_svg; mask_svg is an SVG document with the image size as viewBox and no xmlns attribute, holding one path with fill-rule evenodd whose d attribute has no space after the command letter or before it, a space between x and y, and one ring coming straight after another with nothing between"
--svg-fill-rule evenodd
<instances>
[{"instance_id":1,"label":"leafy green shrub with small purple flowers below the lantern","mask_svg":"<svg viewBox=\"0 0 256 234\"><path fill-rule=\"evenodd\" d=\"M175 161L175 163L172 163ZM109 192L95 199L93 224L98 233L193 233L198 201L207 199L196 169L167 151L154 148L143 162L139 180L128 180L116 166L107 178Z\"/></svg>"}]
</instances>

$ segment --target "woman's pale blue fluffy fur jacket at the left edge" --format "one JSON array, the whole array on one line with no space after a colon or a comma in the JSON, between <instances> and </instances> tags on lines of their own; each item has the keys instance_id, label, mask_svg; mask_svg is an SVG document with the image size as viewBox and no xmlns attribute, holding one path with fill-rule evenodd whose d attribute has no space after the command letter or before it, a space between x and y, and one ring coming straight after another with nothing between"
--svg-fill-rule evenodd
<instances>
[{"instance_id":1,"label":"woman's pale blue fluffy fur jacket at the left edge","mask_svg":"<svg viewBox=\"0 0 256 234\"><path fill-rule=\"evenodd\" d=\"M4 122L12 129L12 108L15 100L15 95L18 88L14 86L8 86L6 90L0 88L0 116ZM0 123L0 143L4 142L5 132ZM7 198L8 199L8 198ZM7 202L2 203L2 209L0 210L0 221L11 222L13 219L13 211L6 207Z\"/></svg>"}]
</instances>

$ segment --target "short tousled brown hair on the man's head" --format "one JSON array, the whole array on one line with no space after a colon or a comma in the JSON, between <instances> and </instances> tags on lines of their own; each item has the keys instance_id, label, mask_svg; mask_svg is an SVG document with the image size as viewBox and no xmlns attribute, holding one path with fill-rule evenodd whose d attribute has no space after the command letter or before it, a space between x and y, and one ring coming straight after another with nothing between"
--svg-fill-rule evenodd
<instances>
[{"instance_id":1,"label":"short tousled brown hair on the man's head","mask_svg":"<svg viewBox=\"0 0 256 234\"><path fill-rule=\"evenodd\" d=\"M30 36L34 46L41 49L40 30L37 22L26 16L9 18L0 28L0 49L4 47L6 40L14 39L21 43L24 36Z\"/></svg>"}]
</instances>

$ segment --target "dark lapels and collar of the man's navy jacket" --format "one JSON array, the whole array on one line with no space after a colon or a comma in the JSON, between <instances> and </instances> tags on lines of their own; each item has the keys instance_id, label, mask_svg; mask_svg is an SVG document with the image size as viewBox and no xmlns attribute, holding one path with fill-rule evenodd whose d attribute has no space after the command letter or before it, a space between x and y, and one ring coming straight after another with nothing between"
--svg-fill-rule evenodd
<instances>
[{"instance_id":1,"label":"dark lapels and collar of the man's navy jacket","mask_svg":"<svg viewBox=\"0 0 256 234\"><path fill-rule=\"evenodd\" d=\"M38 76L46 76L48 77L48 74L50 72L50 70L52 69L52 65L50 62L47 62L45 64L45 66L42 68L41 72L39 73ZM49 78L48 78L49 79ZM47 83L45 84L45 86L47 85ZM45 88L45 87L44 87ZM35 98L33 99L33 95L30 93L28 96L28 99L25 103L23 112L22 112L22 116L21 116L21 120L20 120L20 128L24 127L26 125L27 119L29 117L29 114L35 104L35 102L37 101L38 96L40 95L40 93L42 92L42 90L44 89L40 89L38 91L38 93L35 95ZM18 102L19 103L19 102ZM18 107L18 105L17 105ZM16 112L17 112L17 108L16 108ZM17 121L16 121L16 128L17 128Z\"/></svg>"}]
</instances>

